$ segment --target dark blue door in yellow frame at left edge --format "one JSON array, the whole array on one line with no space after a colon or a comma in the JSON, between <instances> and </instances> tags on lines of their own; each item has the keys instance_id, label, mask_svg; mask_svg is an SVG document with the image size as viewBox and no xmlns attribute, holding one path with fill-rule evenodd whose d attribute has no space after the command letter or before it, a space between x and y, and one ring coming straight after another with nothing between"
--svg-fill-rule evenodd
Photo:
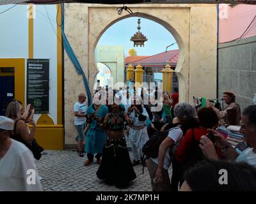
<instances>
[{"instance_id":1,"label":"dark blue door in yellow frame at left edge","mask_svg":"<svg viewBox=\"0 0 256 204\"><path fill-rule=\"evenodd\" d=\"M0 77L0 115L5 115L6 103L14 97L14 77Z\"/></svg>"}]
</instances>

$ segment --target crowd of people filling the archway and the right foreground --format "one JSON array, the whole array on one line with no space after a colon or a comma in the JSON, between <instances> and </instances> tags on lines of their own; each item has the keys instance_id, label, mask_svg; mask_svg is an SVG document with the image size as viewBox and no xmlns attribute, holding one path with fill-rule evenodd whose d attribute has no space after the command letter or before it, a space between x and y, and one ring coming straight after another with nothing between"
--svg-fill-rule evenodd
<instances>
[{"instance_id":1,"label":"crowd of people filling the archway and the right foreground","mask_svg":"<svg viewBox=\"0 0 256 204\"><path fill-rule=\"evenodd\" d=\"M122 188L136 179L132 166L142 164L147 166L152 191L196 191L196 187L193 189L193 180L189 180L193 177L191 172L202 171L202 166L205 165L237 165L247 168L246 164L241 164L247 163L252 166L247 169L253 170L256 167L255 105L248 106L241 114L236 96L230 91L223 92L223 101L227 105L223 110L212 103L196 110L195 106L179 103L178 100L177 89L173 93L145 88L136 93L135 89L131 92L129 88L108 87L95 91L93 105L88 108L91 111L85 113L84 119L89 124L84 135L88 154L84 166L91 164L91 155L97 153L97 177L105 180L106 184ZM75 108L74 111L76 114ZM241 154L215 130L223 124L239 125L240 122L243 142L248 145ZM125 131L132 146L132 158L127 149ZM166 131L168 134L159 146L158 156L143 160L142 149L145 143L152 136ZM77 134L79 135L78 131ZM236 163L232 163L230 159ZM168 174L170 166L171 179ZM232 168L228 168L228 171L232 171ZM221 188L217 187L216 190L218 189Z\"/></svg>"}]
</instances>

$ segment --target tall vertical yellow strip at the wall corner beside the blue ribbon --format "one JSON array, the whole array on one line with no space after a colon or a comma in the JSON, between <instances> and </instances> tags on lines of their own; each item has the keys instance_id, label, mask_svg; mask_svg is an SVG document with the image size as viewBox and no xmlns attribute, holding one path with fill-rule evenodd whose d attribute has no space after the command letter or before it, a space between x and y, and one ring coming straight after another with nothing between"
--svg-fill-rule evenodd
<instances>
[{"instance_id":1,"label":"tall vertical yellow strip at the wall corner beside the blue ribbon","mask_svg":"<svg viewBox=\"0 0 256 204\"><path fill-rule=\"evenodd\" d=\"M57 124L62 124L62 34L61 4L57 4Z\"/></svg>"}]
</instances>

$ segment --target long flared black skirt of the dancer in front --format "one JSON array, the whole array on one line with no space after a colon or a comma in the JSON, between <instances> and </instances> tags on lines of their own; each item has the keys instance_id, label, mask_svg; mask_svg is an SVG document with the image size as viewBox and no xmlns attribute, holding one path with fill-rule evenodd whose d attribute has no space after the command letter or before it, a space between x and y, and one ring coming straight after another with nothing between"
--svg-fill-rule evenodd
<instances>
[{"instance_id":1,"label":"long flared black skirt of the dancer in front","mask_svg":"<svg viewBox=\"0 0 256 204\"><path fill-rule=\"evenodd\" d=\"M104 179L106 184L118 188L127 187L129 182L136 178L125 138L118 140L107 138L97 177Z\"/></svg>"}]
</instances>

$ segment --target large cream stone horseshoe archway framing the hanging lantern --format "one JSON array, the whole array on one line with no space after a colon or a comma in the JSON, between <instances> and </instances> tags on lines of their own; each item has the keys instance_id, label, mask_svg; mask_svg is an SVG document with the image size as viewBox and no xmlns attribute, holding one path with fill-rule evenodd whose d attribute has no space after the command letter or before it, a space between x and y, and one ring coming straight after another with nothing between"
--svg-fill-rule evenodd
<instances>
[{"instance_id":1,"label":"large cream stone horseshoe archway framing the hanging lantern","mask_svg":"<svg viewBox=\"0 0 256 204\"><path fill-rule=\"evenodd\" d=\"M163 25L176 39L180 101L193 96L216 98L217 12L215 4L129 4L132 15L118 15L122 5L65 4L65 33L79 59L91 89L97 75L95 47L111 25L127 17L143 17ZM152 31L154 32L154 31ZM168 43L166 43L168 45ZM65 143L74 143L72 107L83 79L65 54Z\"/></svg>"}]
</instances>

